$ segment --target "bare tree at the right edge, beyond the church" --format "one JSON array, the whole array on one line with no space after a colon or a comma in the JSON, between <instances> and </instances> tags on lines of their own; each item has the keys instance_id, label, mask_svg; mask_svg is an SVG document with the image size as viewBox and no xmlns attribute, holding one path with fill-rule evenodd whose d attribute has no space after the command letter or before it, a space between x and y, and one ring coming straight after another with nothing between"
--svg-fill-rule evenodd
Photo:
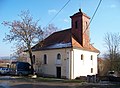
<instances>
[{"instance_id":1,"label":"bare tree at the right edge, beyond the church","mask_svg":"<svg viewBox=\"0 0 120 88\"><path fill-rule=\"evenodd\" d=\"M118 70L118 66L120 64L120 34L119 33L107 33L105 35L105 46L108 50L106 54L110 59L110 70Z\"/></svg>"}]
</instances>

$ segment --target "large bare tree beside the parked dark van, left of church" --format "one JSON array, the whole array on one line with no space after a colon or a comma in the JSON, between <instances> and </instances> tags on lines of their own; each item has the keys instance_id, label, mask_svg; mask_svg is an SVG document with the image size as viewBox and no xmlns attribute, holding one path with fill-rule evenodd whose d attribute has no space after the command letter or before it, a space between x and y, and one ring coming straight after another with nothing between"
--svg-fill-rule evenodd
<instances>
[{"instance_id":1,"label":"large bare tree beside the parked dark van, left of church","mask_svg":"<svg viewBox=\"0 0 120 88\"><path fill-rule=\"evenodd\" d=\"M33 58L31 47L36 41L42 39L43 31L38 26L38 21L33 21L33 17L29 11L22 11L19 15L21 20L14 20L13 22L4 21L3 24L10 28L9 34L6 34L5 41L15 41L18 45L25 45L27 47L30 60L31 69L33 72Z\"/></svg>"}]
</instances>

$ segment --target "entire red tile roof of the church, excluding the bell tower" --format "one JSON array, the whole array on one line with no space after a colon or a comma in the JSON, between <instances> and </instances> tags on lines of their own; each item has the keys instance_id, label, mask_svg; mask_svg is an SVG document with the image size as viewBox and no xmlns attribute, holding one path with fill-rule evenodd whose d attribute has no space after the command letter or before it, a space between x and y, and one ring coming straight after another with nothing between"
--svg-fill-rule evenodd
<instances>
[{"instance_id":1,"label":"entire red tile roof of the church, excluding the bell tower","mask_svg":"<svg viewBox=\"0 0 120 88\"><path fill-rule=\"evenodd\" d=\"M97 50L92 45L90 45L89 47L83 47L80 43L78 43L72 35L71 29L66 29L51 34L46 39L32 47L32 50L39 51L72 47L99 53L99 50Z\"/></svg>"}]
</instances>

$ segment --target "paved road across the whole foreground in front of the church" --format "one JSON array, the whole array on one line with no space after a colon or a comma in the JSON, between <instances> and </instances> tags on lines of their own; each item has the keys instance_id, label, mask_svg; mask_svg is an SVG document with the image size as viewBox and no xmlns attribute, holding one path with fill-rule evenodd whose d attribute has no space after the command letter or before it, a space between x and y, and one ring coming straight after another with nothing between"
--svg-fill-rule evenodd
<instances>
[{"instance_id":1,"label":"paved road across the whole foreground in front of the church","mask_svg":"<svg viewBox=\"0 0 120 88\"><path fill-rule=\"evenodd\" d=\"M120 88L120 86L115 86L108 83L80 84L61 82L36 82L34 80L25 80L19 77L0 76L0 88Z\"/></svg>"}]
</instances>

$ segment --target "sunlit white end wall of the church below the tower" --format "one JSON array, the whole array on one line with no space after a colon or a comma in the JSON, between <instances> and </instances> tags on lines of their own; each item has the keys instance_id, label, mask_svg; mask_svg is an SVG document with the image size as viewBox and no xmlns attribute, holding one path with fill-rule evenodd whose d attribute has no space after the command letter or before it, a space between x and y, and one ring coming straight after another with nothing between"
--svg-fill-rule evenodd
<instances>
[{"instance_id":1,"label":"sunlit white end wall of the church below the tower","mask_svg":"<svg viewBox=\"0 0 120 88\"><path fill-rule=\"evenodd\" d=\"M81 54L83 54L83 60L81 60ZM91 55L93 55L93 60L91 60ZM97 74L97 55L98 53L84 51L80 49L73 49L72 51L72 78L96 75ZM91 73L91 68L93 68L93 73Z\"/></svg>"}]
</instances>

